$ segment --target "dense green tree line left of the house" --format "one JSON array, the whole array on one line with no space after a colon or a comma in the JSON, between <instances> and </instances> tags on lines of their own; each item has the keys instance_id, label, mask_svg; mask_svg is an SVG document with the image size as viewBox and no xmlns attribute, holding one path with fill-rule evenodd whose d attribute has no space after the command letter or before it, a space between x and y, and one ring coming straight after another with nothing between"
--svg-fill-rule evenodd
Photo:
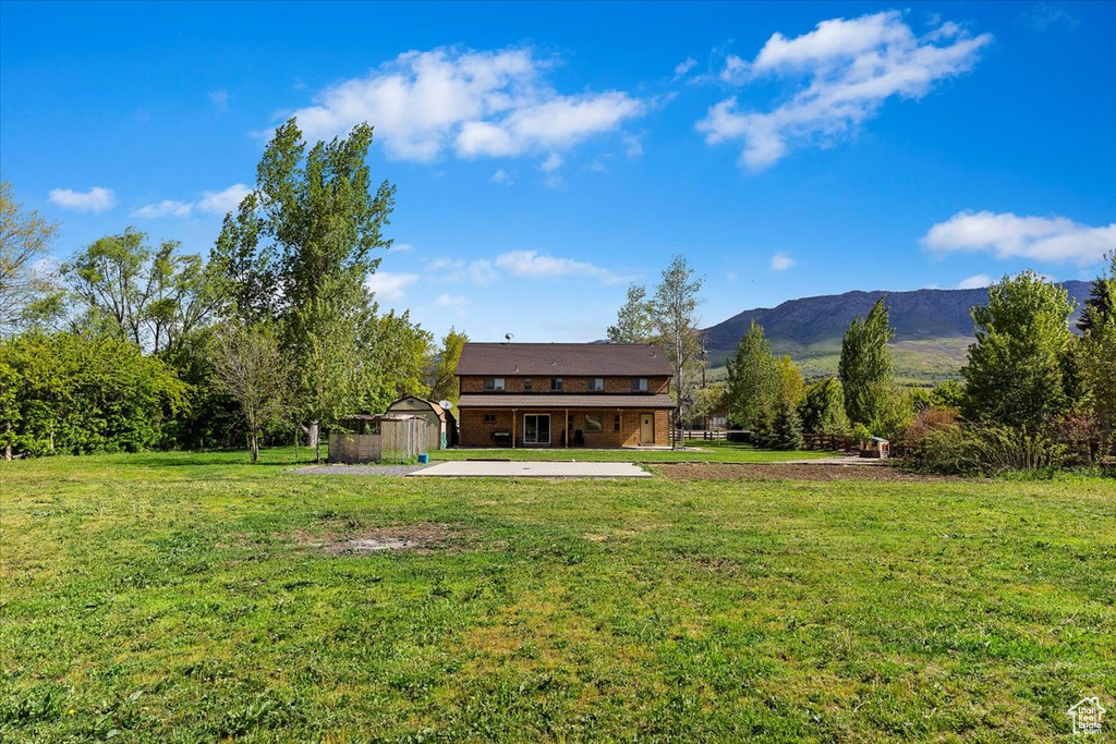
<instances>
[{"instance_id":1,"label":"dense green tree line left of the house","mask_svg":"<svg viewBox=\"0 0 1116 744\"><path fill-rule=\"evenodd\" d=\"M395 187L372 127L308 145L291 119L208 255L125 228L47 261L57 224L0 184L4 457L305 441L403 395L454 400L441 344L368 289Z\"/></svg>"}]
</instances>

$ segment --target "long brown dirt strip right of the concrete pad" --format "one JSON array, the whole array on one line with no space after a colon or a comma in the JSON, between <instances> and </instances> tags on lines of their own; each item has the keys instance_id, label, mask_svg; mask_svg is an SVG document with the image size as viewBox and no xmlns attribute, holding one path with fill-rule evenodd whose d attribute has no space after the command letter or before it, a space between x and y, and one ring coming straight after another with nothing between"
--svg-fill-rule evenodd
<instances>
[{"instance_id":1,"label":"long brown dirt strip right of the concrete pad","mask_svg":"<svg viewBox=\"0 0 1116 744\"><path fill-rule=\"evenodd\" d=\"M888 465L807 465L764 463L677 463L655 465L671 481L942 481L941 475L918 475Z\"/></svg>"}]
</instances>

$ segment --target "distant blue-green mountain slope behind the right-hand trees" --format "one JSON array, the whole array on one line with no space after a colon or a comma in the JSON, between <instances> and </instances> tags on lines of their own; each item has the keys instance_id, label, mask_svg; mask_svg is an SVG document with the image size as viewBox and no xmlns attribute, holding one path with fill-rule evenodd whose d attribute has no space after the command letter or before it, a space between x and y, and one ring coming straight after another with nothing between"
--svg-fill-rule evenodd
<instances>
[{"instance_id":1,"label":"distant blue-green mountain slope behind the right-hand trees","mask_svg":"<svg viewBox=\"0 0 1116 744\"><path fill-rule=\"evenodd\" d=\"M1062 286L1079 306L1089 296L1089 282L1067 281ZM895 327L892 344L898 377L907 381L933 381L956 376L973 339L969 309L988 301L987 289L856 291L744 310L705 329L710 366L722 366L749 323L756 320L763 326L772 350L791 355L807 376L835 373L848 323L856 316L868 315L882 296L887 298Z\"/></svg>"}]
</instances>

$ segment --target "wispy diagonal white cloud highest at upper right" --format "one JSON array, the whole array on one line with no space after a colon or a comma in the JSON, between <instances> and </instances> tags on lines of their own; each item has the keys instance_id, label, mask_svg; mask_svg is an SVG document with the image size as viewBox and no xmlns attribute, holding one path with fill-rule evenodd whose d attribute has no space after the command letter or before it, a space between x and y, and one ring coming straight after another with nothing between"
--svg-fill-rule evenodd
<instances>
[{"instance_id":1,"label":"wispy diagonal white cloud highest at upper right","mask_svg":"<svg viewBox=\"0 0 1116 744\"><path fill-rule=\"evenodd\" d=\"M730 55L720 77L805 78L789 100L768 112L742 112L735 96L712 106L696 128L710 145L742 141L741 165L760 171L791 149L826 146L877 114L893 96L921 98L939 80L973 67L992 40L944 22L918 37L898 11L822 21L802 36L775 33L752 62Z\"/></svg>"}]
</instances>

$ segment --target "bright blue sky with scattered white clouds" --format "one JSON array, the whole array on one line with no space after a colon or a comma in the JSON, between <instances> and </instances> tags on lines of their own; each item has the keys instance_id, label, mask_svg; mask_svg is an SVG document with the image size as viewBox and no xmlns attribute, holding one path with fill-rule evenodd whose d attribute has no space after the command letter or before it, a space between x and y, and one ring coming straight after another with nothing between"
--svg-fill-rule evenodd
<instances>
[{"instance_id":1,"label":"bright blue sky with scattered white clouds","mask_svg":"<svg viewBox=\"0 0 1116 744\"><path fill-rule=\"evenodd\" d=\"M56 258L209 251L270 127L376 128L373 278L435 334L591 340L672 254L705 325L1096 274L1113 3L0 3L0 168Z\"/></svg>"}]
</instances>

